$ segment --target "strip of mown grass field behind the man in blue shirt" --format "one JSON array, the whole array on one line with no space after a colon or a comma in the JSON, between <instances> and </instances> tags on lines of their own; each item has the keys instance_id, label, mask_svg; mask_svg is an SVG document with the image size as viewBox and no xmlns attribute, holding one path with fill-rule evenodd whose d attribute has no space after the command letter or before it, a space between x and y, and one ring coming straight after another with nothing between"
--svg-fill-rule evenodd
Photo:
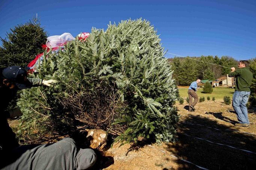
<instances>
[{"instance_id":1,"label":"strip of mown grass field behind the man in blue shirt","mask_svg":"<svg viewBox=\"0 0 256 170\"><path fill-rule=\"evenodd\" d=\"M184 87L184 86L179 86L178 87L179 89L179 95L181 97L188 97L188 86ZM228 88L228 87L214 87L213 88L213 92L211 94L205 94L205 93L202 93L203 92L203 88L200 88L198 91L197 91L197 95L198 97L215 97L215 99L223 99L223 96L230 96L230 98L232 98L233 96L233 93L235 92L235 89L233 88Z\"/></svg>"}]
</instances>

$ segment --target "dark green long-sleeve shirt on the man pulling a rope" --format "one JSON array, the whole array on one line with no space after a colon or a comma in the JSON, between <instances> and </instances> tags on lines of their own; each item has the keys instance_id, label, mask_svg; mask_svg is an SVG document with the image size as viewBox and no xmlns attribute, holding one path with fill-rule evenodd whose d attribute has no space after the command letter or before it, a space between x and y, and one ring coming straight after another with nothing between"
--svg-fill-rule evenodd
<instances>
[{"instance_id":1,"label":"dark green long-sleeve shirt on the man pulling a rope","mask_svg":"<svg viewBox=\"0 0 256 170\"><path fill-rule=\"evenodd\" d=\"M247 67L242 67L236 69L234 72L230 72L229 77L236 78L236 91L250 91L253 74L249 69L247 69Z\"/></svg>"}]
</instances>

